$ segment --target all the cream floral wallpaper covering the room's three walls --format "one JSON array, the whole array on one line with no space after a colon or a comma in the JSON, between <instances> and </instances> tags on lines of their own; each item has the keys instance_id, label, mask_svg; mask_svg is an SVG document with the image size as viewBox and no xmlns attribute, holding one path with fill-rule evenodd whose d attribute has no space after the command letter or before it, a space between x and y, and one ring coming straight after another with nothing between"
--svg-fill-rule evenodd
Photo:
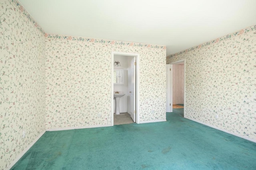
<instances>
[{"instance_id":1,"label":"all the cream floral wallpaper covering the room's three walls","mask_svg":"<svg viewBox=\"0 0 256 170\"><path fill-rule=\"evenodd\" d=\"M166 119L165 64L186 59L186 116L256 139L256 25L165 58L164 46L46 34L1 0L0 35L0 169L45 129L110 125L112 51L140 54L141 122Z\"/></svg>"}]
</instances>

